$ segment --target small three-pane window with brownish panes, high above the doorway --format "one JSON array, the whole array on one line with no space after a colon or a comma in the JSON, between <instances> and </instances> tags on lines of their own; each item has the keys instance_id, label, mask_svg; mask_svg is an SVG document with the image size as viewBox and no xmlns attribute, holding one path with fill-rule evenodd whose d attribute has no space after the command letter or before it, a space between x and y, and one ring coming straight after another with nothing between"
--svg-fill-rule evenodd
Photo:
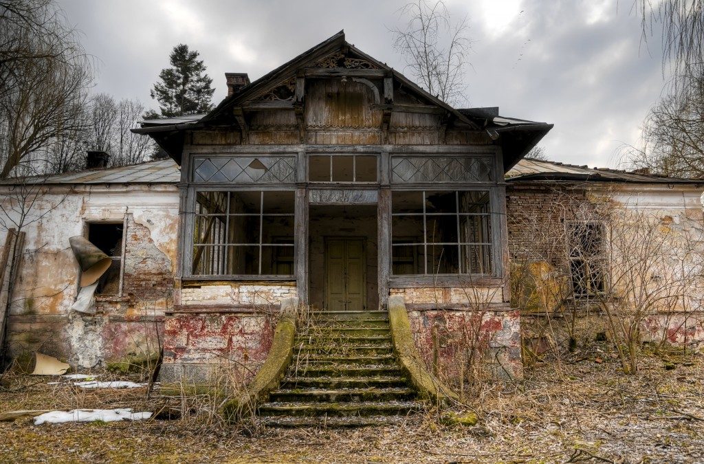
<instances>
[{"instance_id":1,"label":"small three-pane window with brownish panes, high above the doorway","mask_svg":"<svg viewBox=\"0 0 704 464\"><path fill-rule=\"evenodd\" d=\"M310 182L377 182L375 155L311 155Z\"/></svg>"}]
</instances>

